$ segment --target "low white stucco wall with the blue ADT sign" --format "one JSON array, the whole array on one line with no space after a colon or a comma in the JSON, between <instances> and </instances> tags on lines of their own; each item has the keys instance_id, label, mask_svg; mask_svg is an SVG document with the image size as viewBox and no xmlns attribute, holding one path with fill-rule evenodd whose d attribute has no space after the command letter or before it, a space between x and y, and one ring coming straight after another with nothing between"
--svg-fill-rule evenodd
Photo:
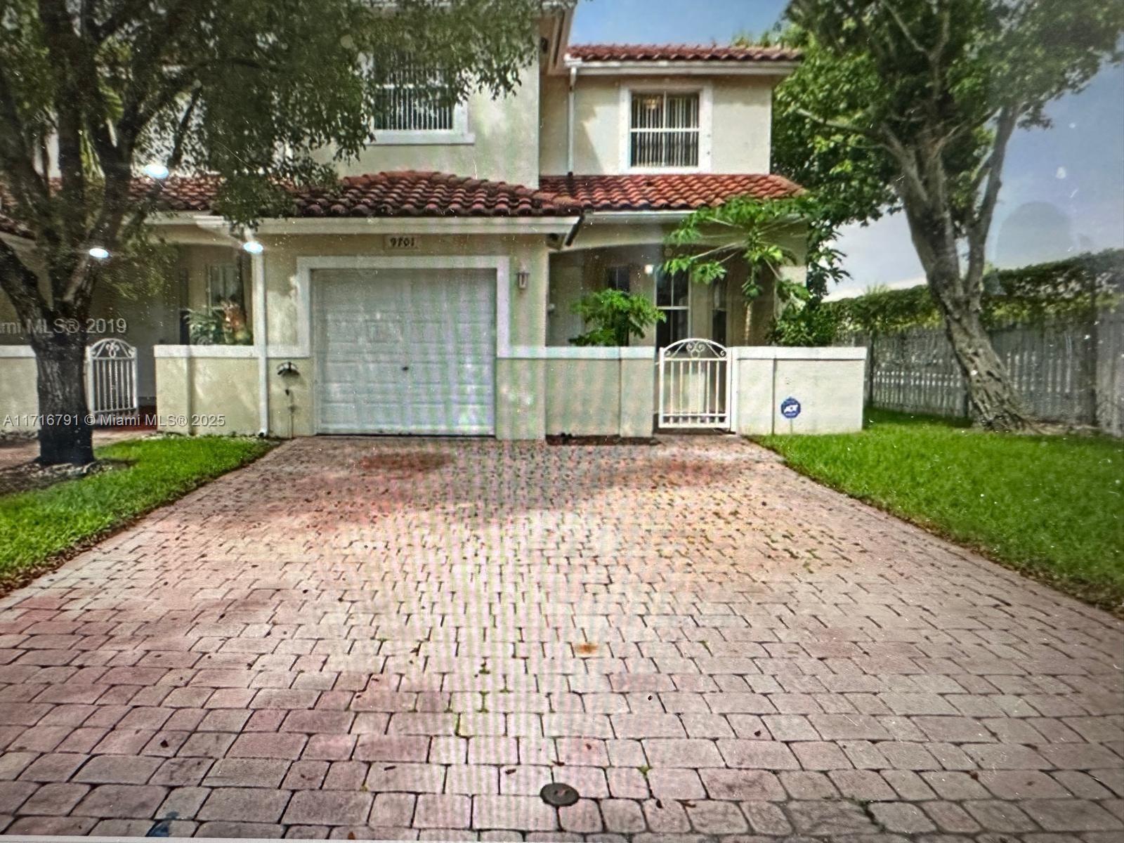
<instances>
[{"instance_id":1,"label":"low white stucco wall with the blue ADT sign","mask_svg":"<svg viewBox=\"0 0 1124 843\"><path fill-rule=\"evenodd\" d=\"M867 350L742 346L735 361L735 429L742 435L862 429ZM799 411L792 402L799 405ZM782 407L788 408L788 416Z\"/></svg>"}]
</instances>

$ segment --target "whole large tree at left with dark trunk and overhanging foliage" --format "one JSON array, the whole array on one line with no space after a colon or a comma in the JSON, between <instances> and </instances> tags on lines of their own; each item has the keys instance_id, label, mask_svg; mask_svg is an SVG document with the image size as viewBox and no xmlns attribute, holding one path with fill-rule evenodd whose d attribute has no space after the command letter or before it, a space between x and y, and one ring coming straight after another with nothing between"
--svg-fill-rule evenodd
<instances>
[{"instance_id":1,"label":"whole large tree at left with dark trunk and overhanging foliage","mask_svg":"<svg viewBox=\"0 0 1124 843\"><path fill-rule=\"evenodd\" d=\"M0 288L29 327L39 460L92 461L84 326L99 283L128 277L164 169L212 173L247 224L327 183L359 153L402 62L434 97L515 89L542 0L0 0ZM319 163L318 163L319 162ZM157 178L137 190L144 167ZM93 253L91 254L91 250ZM103 250L103 251L102 251ZM108 252L108 259L106 257ZM56 324L81 326L56 332Z\"/></svg>"}]
</instances>

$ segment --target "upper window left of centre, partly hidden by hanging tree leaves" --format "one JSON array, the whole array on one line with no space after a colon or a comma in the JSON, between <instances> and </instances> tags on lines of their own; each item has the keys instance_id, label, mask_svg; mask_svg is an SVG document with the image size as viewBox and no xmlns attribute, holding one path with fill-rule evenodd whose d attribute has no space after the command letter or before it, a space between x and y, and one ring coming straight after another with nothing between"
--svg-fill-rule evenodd
<instances>
[{"instance_id":1,"label":"upper window left of centre, partly hidden by hanging tree leaves","mask_svg":"<svg viewBox=\"0 0 1124 843\"><path fill-rule=\"evenodd\" d=\"M404 61L375 91L374 143L471 143L468 108L453 102L445 74Z\"/></svg>"}]
</instances>

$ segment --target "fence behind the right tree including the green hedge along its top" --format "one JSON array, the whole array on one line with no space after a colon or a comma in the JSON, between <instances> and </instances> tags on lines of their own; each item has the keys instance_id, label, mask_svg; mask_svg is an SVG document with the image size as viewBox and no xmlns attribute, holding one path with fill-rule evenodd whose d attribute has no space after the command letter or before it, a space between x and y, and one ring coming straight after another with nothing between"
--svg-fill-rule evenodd
<instances>
[{"instance_id":1,"label":"fence behind the right tree including the green hedge along its top","mask_svg":"<svg viewBox=\"0 0 1124 843\"><path fill-rule=\"evenodd\" d=\"M984 319L1039 418L1124 435L1124 250L992 272ZM867 404L968 415L960 369L925 287L824 302L842 345L868 348Z\"/></svg>"}]
</instances>

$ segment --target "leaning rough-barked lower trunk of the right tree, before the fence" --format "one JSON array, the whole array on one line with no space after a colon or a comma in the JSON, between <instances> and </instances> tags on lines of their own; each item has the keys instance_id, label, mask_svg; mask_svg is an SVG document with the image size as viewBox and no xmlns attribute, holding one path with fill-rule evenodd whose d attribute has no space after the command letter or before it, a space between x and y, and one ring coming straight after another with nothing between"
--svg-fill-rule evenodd
<instances>
[{"instance_id":1,"label":"leaning rough-barked lower trunk of the right tree, before the fence","mask_svg":"<svg viewBox=\"0 0 1124 843\"><path fill-rule=\"evenodd\" d=\"M1022 398L1010 383L1007 366L991 345L978 311L936 296L944 314L944 328L952 352L968 384L972 415L990 430L1024 430L1030 417Z\"/></svg>"}]
</instances>

